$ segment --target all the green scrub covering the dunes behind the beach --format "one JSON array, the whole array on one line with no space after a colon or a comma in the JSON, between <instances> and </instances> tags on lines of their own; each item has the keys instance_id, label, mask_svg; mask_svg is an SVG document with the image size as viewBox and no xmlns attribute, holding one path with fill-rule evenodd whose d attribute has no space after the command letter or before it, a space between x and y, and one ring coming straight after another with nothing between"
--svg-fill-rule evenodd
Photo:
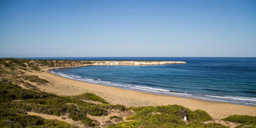
<instances>
[{"instance_id":1,"label":"all the green scrub covering the dunes behind the beach","mask_svg":"<svg viewBox=\"0 0 256 128\"><path fill-rule=\"evenodd\" d=\"M50 83L39 76L27 75L28 72L42 72L44 68L70 67L80 64L91 64L90 61L71 60L29 60L29 59L0 59L0 127L5 128L75 128L58 120L48 120L39 116L26 115L35 112L54 116L65 116L83 124L86 127L98 127L100 124L91 116L107 116L111 110L120 112L134 111L136 114L123 121L120 116L110 116L120 119L121 123L110 123L106 128L227 128L222 124L209 123L212 117L203 110L192 111L180 105L129 107L112 105L93 93L76 96L58 96L41 92L38 87ZM27 72L27 73L26 73ZM25 87L27 89L21 88ZM102 104L87 102L98 101ZM190 123L179 116L179 110L186 109ZM222 120L243 123L237 128L256 126L254 116L229 116Z\"/></svg>"}]
</instances>

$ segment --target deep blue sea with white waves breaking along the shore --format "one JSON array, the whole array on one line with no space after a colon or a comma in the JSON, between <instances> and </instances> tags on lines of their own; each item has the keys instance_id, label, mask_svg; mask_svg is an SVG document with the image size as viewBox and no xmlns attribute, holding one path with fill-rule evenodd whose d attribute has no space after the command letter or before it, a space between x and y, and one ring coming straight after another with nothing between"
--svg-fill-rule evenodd
<instances>
[{"instance_id":1,"label":"deep blue sea with white waves breaking along the shore","mask_svg":"<svg viewBox=\"0 0 256 128\"><path fill-rule=\"evenodd\" d=\"M71 57L50 60L184 61L168 65L104 65L50 70L59 76L127 90L256 106L256 58Z\"/></svg>"}]
</instances>

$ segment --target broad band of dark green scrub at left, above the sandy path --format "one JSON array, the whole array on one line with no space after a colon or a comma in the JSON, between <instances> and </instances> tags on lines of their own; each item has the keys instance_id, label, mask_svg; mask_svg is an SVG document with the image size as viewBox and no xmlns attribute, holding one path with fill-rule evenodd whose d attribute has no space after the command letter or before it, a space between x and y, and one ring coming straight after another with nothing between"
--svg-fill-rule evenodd
<instances>
[{"instance_id":1,"label":"broad band of dark green scrub at left, above the sandy path","mask_svg":"<svg viewBox=\"0 0 256 128\"><path fill-rule=\"evenodd\" d=\"M69 96L57 96L46 92L34 92L31 90L21 89L15 84L0 84L0 101L2 102L1 111L25 113L32 111L48 115L65 115L74 120L80 120L87 126L94 126L92 120L86 117L86 114L93 116L107 115L104 108L100 108L92 103L87 103L77 98ZM12 100L21 100L12 102Z\"/></svg>"}]
</instances>

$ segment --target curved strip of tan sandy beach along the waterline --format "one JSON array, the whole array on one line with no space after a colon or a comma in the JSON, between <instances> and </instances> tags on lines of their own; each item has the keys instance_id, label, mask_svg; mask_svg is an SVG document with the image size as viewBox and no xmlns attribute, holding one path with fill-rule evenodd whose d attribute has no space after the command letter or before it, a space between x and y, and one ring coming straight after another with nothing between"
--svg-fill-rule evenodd
<instances>
[{"instance_id":1,"label":"curved strip of tan sandy beach along the waterline","mask_svg":"<svg viewBox=\"0 0 256 128\"><path fill-rule=\"evenodd\" d=\"M178 104L191 110L205 110L215 119L222 119L230 115L256 116L256 106L153 94L91 84L57 76L53 73L49 73L48 69L50 68L44 69L45 73L28 72L28 74L37 75L40 78L48 80L51 85L37 87L42 91L55 93L57 95L78 95L85 92L92 92L111 104L122 104L126 107Z\"/></svg>"}]
</instances>

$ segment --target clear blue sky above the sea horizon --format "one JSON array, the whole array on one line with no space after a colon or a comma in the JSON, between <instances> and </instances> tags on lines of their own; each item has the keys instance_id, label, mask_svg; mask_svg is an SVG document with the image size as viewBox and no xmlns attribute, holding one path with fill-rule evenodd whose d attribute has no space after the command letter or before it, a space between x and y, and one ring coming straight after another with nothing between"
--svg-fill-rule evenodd
<instances>
[{"instance_id":1,"label":"clear blue sky above the sea horizon","mask_svg":"<svg viewBox=\"0 0 256 128\"><path fill-rule=\"evenodd\" d=\"M256 57L256 1L1 0L0 57Z\"/></svg>"}]
</instances>

